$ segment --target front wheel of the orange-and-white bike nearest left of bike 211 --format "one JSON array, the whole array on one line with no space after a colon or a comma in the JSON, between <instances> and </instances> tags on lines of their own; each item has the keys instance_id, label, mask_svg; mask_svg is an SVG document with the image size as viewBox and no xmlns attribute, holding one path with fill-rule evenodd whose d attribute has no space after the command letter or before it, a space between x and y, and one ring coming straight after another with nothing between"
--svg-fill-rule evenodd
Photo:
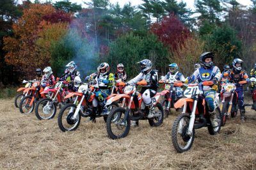
<instances>
[{"instance_id":1,"label":"front wheel of the orange-and-white bike nearest left of bike 211","mask_svg":"<svg viewBox=\"0 0 256 170\"><path fill-rule=\"evenodd\" d=\"M124 121L125 109L123 107L116 107L109 115L106 122L108 136L111 139L120 139L129 134L131 128L131 120L128 116Z\"/></svg>"}]
</instances>

